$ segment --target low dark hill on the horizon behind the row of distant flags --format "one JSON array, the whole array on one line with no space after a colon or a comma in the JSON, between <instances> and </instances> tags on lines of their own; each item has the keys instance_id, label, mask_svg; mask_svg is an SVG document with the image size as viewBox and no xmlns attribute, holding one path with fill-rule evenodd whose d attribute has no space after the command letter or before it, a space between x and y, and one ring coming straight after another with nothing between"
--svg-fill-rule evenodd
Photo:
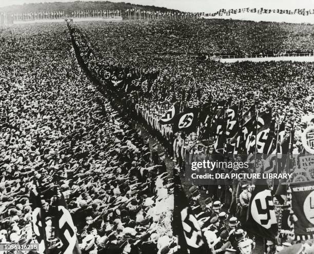
<instances>
[{"instance_id":1,"label":"low dark hill on the horizon behind the row of distant flags","mask_svg":"<svg viewBox=\"0 0 314 254\"><path fill-rule=\"evenodd\" d=\"M136 8L140 10L150 10L150 11L178 11L178 10L170 10L164 7L155 7L155 6L143 6L143 5L134 5L130 3L112 3L109 1L97 1L97 2L69 2L69 3L37 3L37 4L24 4L24 5L11 5L0 8L0 12L8 12L8 13L28 13L28 12L42 12L42 11L64 11L65 14L70 14L72 11L92 11L92 10L121 10L123 15L127 15L123 10L129 8Z\"/></svg>"}]
</instances>

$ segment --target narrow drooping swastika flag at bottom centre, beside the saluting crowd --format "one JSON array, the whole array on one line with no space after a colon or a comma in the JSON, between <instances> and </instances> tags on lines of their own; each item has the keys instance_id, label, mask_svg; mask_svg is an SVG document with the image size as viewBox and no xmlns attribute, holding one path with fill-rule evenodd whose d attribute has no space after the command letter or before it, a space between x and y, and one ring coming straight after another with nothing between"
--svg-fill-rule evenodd
<instances>
[{"instance_id":1,"label":"narrow drooping swastika flag at bottom centre, beside the saluting crowd","mask_svg":"<svg viewBox=\"0 0 314 254\"><path fill-rule=\"evenodd\" d=\"M200 254L211 253L203 237L199 222L195 218L188 199L181 185L178 171L173 169L174 180L174 209L172 230L178 237L178 253Z\"/></svg>"}]
</instances>

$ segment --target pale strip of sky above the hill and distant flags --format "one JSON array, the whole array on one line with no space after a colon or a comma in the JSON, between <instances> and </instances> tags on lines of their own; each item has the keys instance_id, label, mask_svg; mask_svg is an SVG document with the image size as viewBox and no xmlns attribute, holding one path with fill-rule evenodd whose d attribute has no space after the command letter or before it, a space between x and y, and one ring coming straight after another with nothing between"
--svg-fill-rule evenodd
<instances>
[{"instance_id":1,"label":"pale strip of sky above the hill and distant flags","mask_svg":"<svg viewBox=\"0 0 314 254\"><path fill-rule=\"evenodd\" d=\"M82 0L90 1L90 0ZM140 5L154 5L190 12L212 12L221 8L314 9L314 0L109 0ZM0 0L0 7L41 2L72 2L71 0Z\"/></svg>"}]
</instances>

